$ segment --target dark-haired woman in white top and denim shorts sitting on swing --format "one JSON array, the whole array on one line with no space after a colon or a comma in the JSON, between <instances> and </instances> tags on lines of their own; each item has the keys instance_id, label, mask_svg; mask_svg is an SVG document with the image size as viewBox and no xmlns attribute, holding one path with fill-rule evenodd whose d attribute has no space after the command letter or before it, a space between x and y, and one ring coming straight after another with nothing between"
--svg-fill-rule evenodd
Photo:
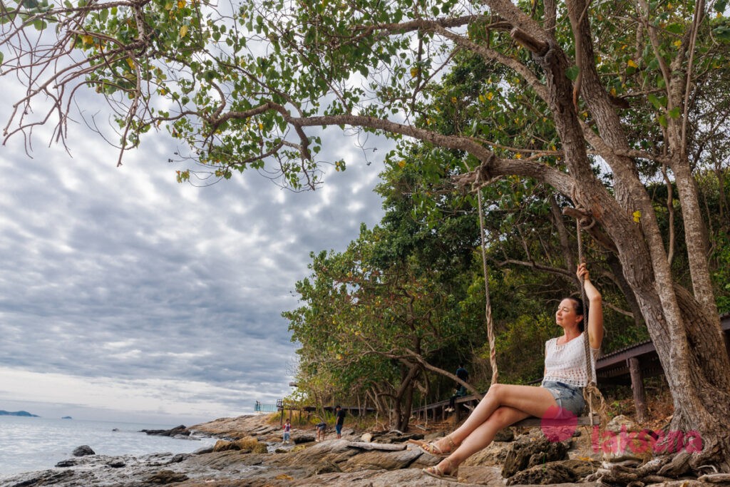
<instances>
[{"instance_id":1,"label":"dark-haired woman in white top and denim shorts sitting on swing","mask_svg":"<svg viewBox=\"0 0 730 487\"><path fill-rule=\"evenodd\" d=\"M591 363L595 367L603 340L601 294L591 283L585 264L578 266L576 275L583 280L585 297L590 302L588 337ZM445 457L438 465L423 469L423 472L436 478L456 478L461 462L489 445L500 429L529 416L543 418L549 415L555 418L567 412L580 415L585 407L582 388L588 385L589 380L585 369L582 313L580 299L570 297L560 302L555 318L563 329L563 335L545 343L545 377L541 386L493 384L458 429L436 442L418 442L426 453Z\"/></svg>"}]
</instances>

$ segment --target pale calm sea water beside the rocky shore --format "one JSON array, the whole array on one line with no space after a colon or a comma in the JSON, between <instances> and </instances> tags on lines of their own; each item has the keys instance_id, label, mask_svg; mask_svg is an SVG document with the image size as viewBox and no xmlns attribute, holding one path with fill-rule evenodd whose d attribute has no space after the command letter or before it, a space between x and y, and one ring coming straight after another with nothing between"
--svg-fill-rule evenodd
<instances>
[{"instance_id":1,"label":"pale calm sea water beside the rocky shore","mask_svg":"<svg viewBox=\"0 0 730 487\"><path fill-rule=\"evenodd\" d=\"M80 445L90 446L99 455L139 456L191 453L215 443L211 437L180 439L139 432L175 426L0 416L0 480L53 468L59 461L73 458L72 451Z\"/></svg>"}]
</instances>

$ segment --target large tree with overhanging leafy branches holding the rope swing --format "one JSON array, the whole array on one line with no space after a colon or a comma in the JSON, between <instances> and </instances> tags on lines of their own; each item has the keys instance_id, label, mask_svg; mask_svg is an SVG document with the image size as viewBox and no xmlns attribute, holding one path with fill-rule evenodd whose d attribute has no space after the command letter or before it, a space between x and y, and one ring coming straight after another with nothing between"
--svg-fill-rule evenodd
<instances>
[{"instance_id":1,"label":"large tree with overhanging leafy branches holding the rope swing","mask_svg":"<svg viewBox=\"0 0 730 487\"><path fill-rule=\"evenodd\" d=\"M704 440L692 464L728 472L730 361L693 179L718 164L708 134L727 133L725 11L724 0L4 1L2 73L27 88L5 133L55 120L63 139L85 85L117 110L120 158L166 126L193 170L274 164L283 183L315 187L331 126L449 150L472 187L507 175L549 185L618 258L666 371L672 428ZM487 68L476 98L439 88L464 53ZM646 189L658 175L677 190L689 286L672 275Z\"/></svg>"}]
</instances>

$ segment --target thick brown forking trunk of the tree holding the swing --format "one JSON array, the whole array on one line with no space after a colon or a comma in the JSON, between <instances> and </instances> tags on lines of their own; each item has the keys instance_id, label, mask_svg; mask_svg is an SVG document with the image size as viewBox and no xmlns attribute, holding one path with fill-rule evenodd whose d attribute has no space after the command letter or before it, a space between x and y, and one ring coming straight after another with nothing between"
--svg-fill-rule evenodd
<instances>
[{"instance_id":1,"label":"thick brown forking trunk of the tree holding the swing","mask_svg":"<svg viewBox=\"0 0 730 487\"><path fill-rule=\"evenodd\" d=\"M574 9L571 17L579 18L585 2L569 1L567 6ZM591 71L595 65L588 20L583 20L580 26L574 24L573 28L582 41L582 50L577 53L582 56L580 65L585 66L581 93L596 120L602 142L612 148L604 158L613 169L615 198L591 172L585 152L586 137L595 134L588 133L592 129L584 133L580 126L572 100L573 86L565 75L570 64L561 48L551 40L548 53L537 53L534 57L546 74L550 110L564 146L566 166L575 180L573 194L566 196L588 209L615 243L623 276L637 298L672 391L675 406L672 428L685 433L694 430L704 442L705 450L702 456L696 457L694 466L703 461L712 462L730 471L730 429L718 427L718 421L726 425L726 418L730 417L730 361L723 340L719 340L718 316L716 312L712 315L712 307L707 305L702 266L697 267L699 278L693 275L693 283L700 283L699 301L686 291L675 291L648 193L633 161L616 155L629 145L597 73ZM680 195L682 199L696 200L696 193L688 187ZM637 210L638 221L632 221L630 215ZM699 231L696 212L691 212L689 218L694 221L690 228L696 235ZM694 251L699 250L694 248ZM704 253L700 252L699 258L705 259L706 264Z\"/></svg>"}]
</instances>

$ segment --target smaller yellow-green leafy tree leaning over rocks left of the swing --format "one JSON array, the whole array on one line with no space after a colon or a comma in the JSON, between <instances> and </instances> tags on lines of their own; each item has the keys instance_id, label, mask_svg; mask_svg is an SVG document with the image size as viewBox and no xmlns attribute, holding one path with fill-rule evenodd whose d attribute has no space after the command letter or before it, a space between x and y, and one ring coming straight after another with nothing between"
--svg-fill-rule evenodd
<instances>
[{"instance_id":1,"label":"smaller yellow-green leafy tree leaning over rocks left of the swing","mask_svg":"<svg viewBox=\"0 0 730 487\"><path fill-rule=\"evenodd\" d=\"M475 331L455 312L458 289L434 277L439 269L410 257L378 265L382 235L363 228L345 252L312 255L312 275L296 284L303 305L283 315L301 344L298 383L322 373L331 395L365 393L404 430L415 391L429 388L424 365Z\"/></svg>"}]
</instances>

